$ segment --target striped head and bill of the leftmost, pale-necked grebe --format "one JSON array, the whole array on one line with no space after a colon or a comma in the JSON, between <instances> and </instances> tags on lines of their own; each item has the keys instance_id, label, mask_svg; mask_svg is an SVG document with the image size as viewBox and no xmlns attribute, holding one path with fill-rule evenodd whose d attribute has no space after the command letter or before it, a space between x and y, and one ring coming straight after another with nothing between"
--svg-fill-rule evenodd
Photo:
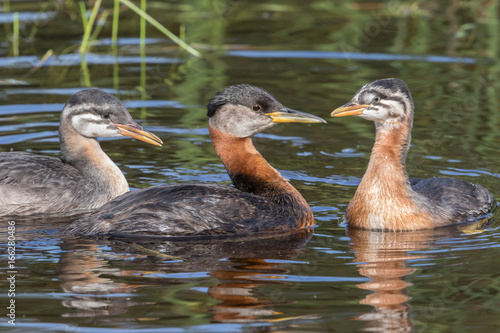
<instances>
[{"instance_id":1,"label":"striped head and bill of the leftmost, pale-necked grebe","mask_svg":"<svg viewBox=\"0 0 500 333\"><path fill-rule=\"evenodd\" d=\"M63 120L87 138L129 136L161 146L163 142L139 126L123 103L99 89L85 89L68 100L61 114Z\"/></svg>"}]
</instances>

